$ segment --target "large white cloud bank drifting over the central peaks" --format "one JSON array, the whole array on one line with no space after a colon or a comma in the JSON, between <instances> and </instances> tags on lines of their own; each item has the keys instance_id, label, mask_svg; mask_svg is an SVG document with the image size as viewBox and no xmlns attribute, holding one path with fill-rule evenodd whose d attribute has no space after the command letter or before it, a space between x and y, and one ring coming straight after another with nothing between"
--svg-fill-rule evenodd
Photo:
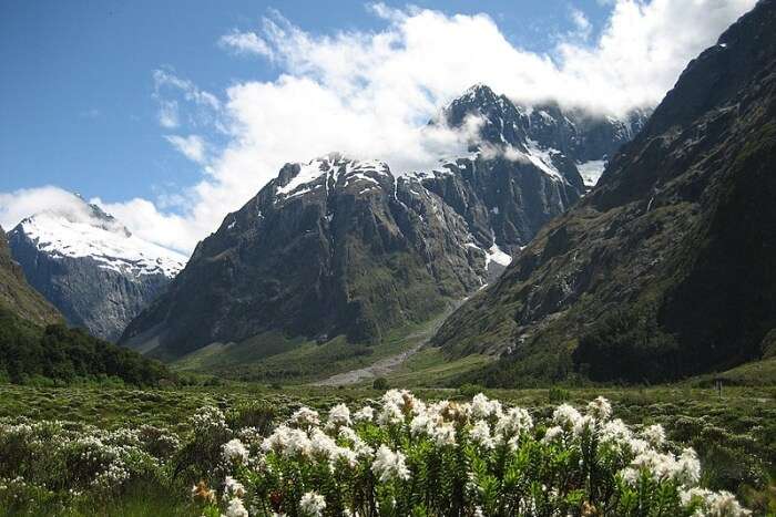
<instances>
[{"instance_id":1,"label":"large white cloud bank drifting over the central peaks","mask_svg":"<svg viewBox=\"0 0 776 517\"><path fill-rule=\"evenodd\" d=\"M154 72L163 127L202 133L210 126L225 135L223 145L208 148L201 180L184 189L186 208L170 214L160 199L104 208L134 232L190 251L285 162L341 151L385 159L400 173L462 152L466 134L427 121L473 83L517 102L553 99L611 114L654 105L686 63L755 0L610 3L611 15L595 39L585 14L572 11L572 29L548 54L514 46L486 14L377 3L369 10L384 20L380 30L312 34L270 13L259 27L231 31L218 44L270 59L279 71L275 80L239 82L216 96L170 69ZM165 112L172 102L175 110ZM167 139L205 162L204 144Z\"/></svg>"}]
</instances>

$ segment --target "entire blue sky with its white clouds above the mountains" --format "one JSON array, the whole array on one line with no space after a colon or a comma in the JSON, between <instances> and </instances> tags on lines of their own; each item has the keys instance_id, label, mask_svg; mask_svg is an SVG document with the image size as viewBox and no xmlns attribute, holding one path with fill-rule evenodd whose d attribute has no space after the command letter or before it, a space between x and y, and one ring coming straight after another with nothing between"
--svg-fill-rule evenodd
<instances>
[{"instance_id":1,"label":"entire blue sky with its white clouds above the mountains","mask_svg":"<svg viewBox=\"0 0 776 517\"><path fill-rule=\"evenodd\" d=\"M474 82L654 105L753 2L4 0L0 224L63 189L191 251L284 162L338 149L400 172L453 153L420 126Z\"/></svg>"}]
</instances>

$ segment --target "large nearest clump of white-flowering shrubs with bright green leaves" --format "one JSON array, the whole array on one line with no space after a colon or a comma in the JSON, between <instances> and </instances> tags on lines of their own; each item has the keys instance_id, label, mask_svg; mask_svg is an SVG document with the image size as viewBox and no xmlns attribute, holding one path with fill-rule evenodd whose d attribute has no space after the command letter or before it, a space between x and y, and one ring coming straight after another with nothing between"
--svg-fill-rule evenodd
<instances>
[{"instance_id":1,"label":"large nearest clump of white-flowering shrubs with bright green leaves","mask_svg":"<svg viewBox=\"0 0 776 517\"><path fill-rule=\"evenodd\" d=\"M534 421L482 394L427 404L391 390L353 414L302 407L266 437L232 438L222 458L222 497L194 487L203 515L749 515L698 486L692 448L674 449L660 425L612 418L602 397Z\"/></svg>"}]
</instances>

